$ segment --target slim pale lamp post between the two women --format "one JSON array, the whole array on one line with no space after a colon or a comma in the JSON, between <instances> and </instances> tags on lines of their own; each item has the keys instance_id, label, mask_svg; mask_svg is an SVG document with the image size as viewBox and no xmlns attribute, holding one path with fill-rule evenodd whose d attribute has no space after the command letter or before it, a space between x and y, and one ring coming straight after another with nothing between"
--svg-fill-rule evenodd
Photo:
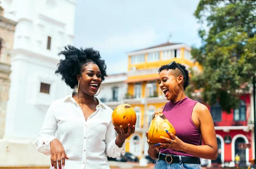
<instances>
[{"instance_id":1,"label":"slim pale lamp post between the two women","mask_svg":"<svg viewBox=\"0 0 256 169\"><path fill-rule=\"evenodd\" d=\"M153 84L146 84L145 87L145 95L144 95L144 117L143 117L143 133L142 133L142 157L140 158L140 166L147 166L147 159L145 158L144 155L144 147L145 147L145 142L146 142L146 131L147 131L147 97L149 95L149 88L152 88Z\"/></svg>"}]
</instances>

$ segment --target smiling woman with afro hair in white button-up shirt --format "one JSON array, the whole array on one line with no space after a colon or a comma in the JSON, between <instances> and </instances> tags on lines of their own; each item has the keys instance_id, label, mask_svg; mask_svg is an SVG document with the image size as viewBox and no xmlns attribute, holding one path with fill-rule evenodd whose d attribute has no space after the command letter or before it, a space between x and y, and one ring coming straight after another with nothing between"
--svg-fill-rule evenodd
<instances>
[{"instance_id":1,"label":"smiling woman with afro hair in white button-up shirt","mask_svg":"<svg viewBox=\"0 0 256 169\"><path fill-rule=\"evenodd\" d=\"M50 155L51 168L109 169L106 156L125 153L125 139L135 126L117 130L111 120L113 110L95 97L107 76L105 61L93 48L65 47L56 70L77 93L54 101L39 133L37 150ZM117 131L117 136L115 135Z\"/></svg>"}]
</instances>

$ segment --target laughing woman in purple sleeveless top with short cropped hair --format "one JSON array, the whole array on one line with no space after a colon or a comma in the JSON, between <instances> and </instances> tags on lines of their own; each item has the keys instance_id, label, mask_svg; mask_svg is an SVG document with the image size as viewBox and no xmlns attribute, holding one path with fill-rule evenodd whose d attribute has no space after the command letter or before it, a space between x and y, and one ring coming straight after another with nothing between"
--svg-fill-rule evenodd
<instances>
[{"instance_id":1,"label":"laughing woman in purple sleeveless top with short cropped hair","mask_svg":"<svg viewBox=\"0 0 256 169\"><path fill-rule=\"evenodd\" d=\"M158 72L159 87L169 101L161 112L172 123L176 135L166 130L169 138L160 136L162 142L153 145L147 140L148 154L155 160L154 169L200 169L200 158L217 158L211 113L205 105L186 96L189 75L184 65L171 62Z\"/></svg>"}]
</instances>

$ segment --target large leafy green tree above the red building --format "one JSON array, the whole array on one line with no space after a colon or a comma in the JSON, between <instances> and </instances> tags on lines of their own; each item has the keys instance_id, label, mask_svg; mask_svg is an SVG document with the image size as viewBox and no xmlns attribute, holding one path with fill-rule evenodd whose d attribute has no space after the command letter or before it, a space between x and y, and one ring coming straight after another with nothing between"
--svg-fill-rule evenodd
<instances>
[{"instance_id":1,"label":"large leafy green tree above the red building","mask_svg":"<svg viewBox=\"0 0 256 169\"><path fill-rule=\"evenodd\" d=\"M200 0L194 16L202 45L191 54L203 71L192 76L192 87L209 105L219 100L230 112L256 72L256 1Z\"/></svg>"}]
</instances>

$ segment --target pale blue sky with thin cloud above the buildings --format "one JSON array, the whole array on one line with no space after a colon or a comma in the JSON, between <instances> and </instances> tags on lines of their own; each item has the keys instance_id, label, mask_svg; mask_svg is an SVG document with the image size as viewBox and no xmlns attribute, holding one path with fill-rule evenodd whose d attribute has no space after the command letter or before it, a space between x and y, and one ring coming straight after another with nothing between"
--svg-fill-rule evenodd
<instances>
[{"instance_id":1,"label":"pale blue sky with thin cloud above the buildings","mask_svg":"<svg viewBox=\"0 0 256 169\"><path fill-rule=\"evenodd\" d=\"M77 0L76 47L93 47L107 73L127 72L126 52L171 42L200 46L199 0ZM172 35L169 38L169 35Z\"/></svg>"}]
</instances>

